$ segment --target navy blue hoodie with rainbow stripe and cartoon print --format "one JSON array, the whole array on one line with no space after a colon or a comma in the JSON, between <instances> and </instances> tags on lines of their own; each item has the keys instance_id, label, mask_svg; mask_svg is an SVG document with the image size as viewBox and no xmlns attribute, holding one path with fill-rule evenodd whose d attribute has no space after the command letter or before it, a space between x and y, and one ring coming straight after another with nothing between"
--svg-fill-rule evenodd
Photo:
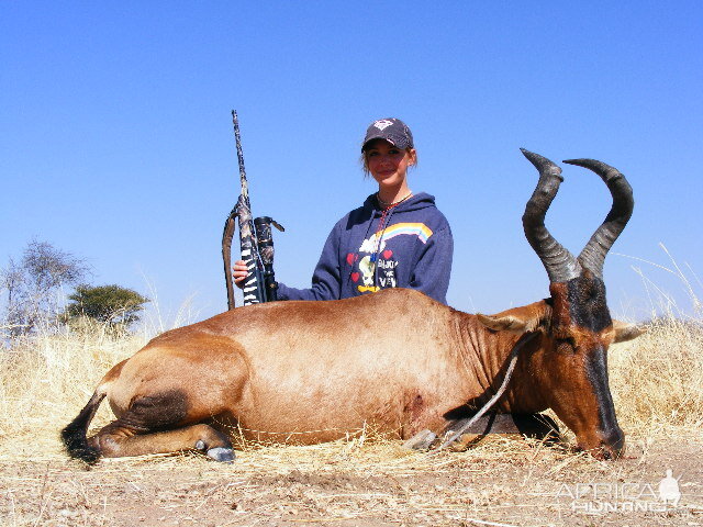
<instances>
[{"instance_id":1,"label":"navy blue hoodie with rainbow stripe and cartoon print","mask_svg":"<svg viewBox=\"0 0 703 527\"><path fill-rule=\"evenodd\" d=\"M420 192L386 214L376 194L334 226L311 289L279 283L279 300L338 300L387 288L416 289L447 303L454 240L434 195Z\"/></svg>"}]
</instances>

